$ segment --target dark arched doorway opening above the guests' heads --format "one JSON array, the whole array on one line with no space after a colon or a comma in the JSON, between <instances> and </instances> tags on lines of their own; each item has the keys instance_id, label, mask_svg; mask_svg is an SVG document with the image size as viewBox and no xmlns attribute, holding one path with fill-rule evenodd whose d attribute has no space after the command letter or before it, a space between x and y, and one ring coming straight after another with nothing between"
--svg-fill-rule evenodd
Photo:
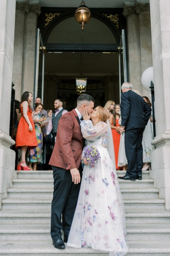
<instances>
[{"instance_id":1,"label":"dark arched doorway opening above the guests' heads","mask_svg":"<svg viewBox=\"0 0 170 256\"><path fill-rule=\"evenodd\" d=\"M122 9L114 10L112 21L105 16L104 9L91 10L91 21L83 32L74 18L75 10L49 11L42 10L38 22L46 50L45 108L52 108L54 100L62 98L67 102L67 109L72 109L77 99L77 76L87 77L86 93L94 96L96 105L104 105L108 99L119 102L118 46L121 29L125 27L125 19L120 15ZM113 9L107 11L113 13ZM49 20L48 15L52 13L55 17ZM113 22L113 16L117 15L122 19L116 22L115 18Z\"/></svg>"}]
</instances>

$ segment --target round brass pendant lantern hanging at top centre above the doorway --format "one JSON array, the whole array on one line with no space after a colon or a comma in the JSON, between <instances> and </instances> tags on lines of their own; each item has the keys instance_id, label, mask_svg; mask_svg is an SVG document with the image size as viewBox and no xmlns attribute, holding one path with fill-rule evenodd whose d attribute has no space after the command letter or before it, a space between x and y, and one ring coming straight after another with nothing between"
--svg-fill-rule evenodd
<instances>
[{"instance_id":1,"label":"round brass pendant lantern hanging at top centre above the doorway","mask_svg":"<svg viewBox=\"0 0 170 256\"><path fill-rule=\"evenodd\" d=\"M85 23L88 23L88 21L91 19L91 12L87 8L87 6L85 6L84 1L82 1L81 5L76 10L75 18L78 23L82 24L82 31L83 31Z\"/></svg>"}]
</instances>

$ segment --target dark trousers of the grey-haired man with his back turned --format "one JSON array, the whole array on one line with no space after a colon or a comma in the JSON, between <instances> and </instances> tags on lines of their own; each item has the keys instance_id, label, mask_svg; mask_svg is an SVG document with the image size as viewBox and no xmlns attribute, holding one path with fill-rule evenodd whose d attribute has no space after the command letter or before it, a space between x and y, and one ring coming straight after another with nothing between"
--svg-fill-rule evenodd
<instances>
[{"instance_id":1,"label":"dark trousers of the grey-haired man with his back turned","mask_svg":"<svg viewBox=\"0 0 170 256\"><path fill-rule=\"evenodd\" d=\"M142 174L143 167L143 138L144 128L135 128L125 131L125 153L128 169L126 175L136 178Z\"/></svg>"}]
</instances>

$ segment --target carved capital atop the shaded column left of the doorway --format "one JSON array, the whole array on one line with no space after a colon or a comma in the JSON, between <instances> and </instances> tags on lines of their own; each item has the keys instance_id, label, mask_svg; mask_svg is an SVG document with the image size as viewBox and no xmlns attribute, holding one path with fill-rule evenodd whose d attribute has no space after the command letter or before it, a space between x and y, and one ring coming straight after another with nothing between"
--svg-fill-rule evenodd
<instances>
[{"instance_id":1,"label":"carved capital atop the shaded column left of the doorway","mask_svg":"<svg viewBox=\"0 0 170 256\"><path fill-rule=\"evenodd\" d=\"M29 13L29 12L37 13L37 15L40 15L41 4L40 3L30 4L28 0L23 2L16 2L16 10L23 11L26 13Z\"/></svg>"}]
</instances>

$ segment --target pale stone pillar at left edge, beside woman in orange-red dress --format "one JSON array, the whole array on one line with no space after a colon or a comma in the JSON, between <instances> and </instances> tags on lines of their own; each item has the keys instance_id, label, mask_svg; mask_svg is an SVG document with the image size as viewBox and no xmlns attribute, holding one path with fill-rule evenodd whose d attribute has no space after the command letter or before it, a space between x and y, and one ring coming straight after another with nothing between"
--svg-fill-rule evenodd
<instances>
[{"instance_id":1,"label":"pale stone pillar at left edge, beside woman in orange-red dress","mask_svg":"<svg viewBox=\"0 0 170 256\"><path fill-rule=\"evenodd\" d=\"M15 1L0 1L0 208L15 175L14 140L9 136L14 52Z\"/></svg>"}]
</instances>

